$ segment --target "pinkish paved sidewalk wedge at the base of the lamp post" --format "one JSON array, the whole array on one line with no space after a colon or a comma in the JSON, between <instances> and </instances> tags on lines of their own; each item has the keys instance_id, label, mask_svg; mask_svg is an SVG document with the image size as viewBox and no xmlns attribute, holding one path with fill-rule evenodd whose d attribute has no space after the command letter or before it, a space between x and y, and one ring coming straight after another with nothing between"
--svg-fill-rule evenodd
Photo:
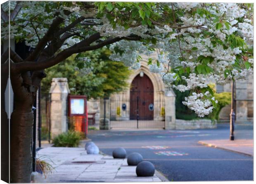
<instances>
[{"instance_id":1,"label":"pinkish paved sidewalk wedge at the base of the lamp post","mask_svg":"<svg viewBox=\"0 0 256 184\"><path fill-rule=\"evenodd\" d=\"M203 140L199 141L198 143L206 146L242 153L249 156L254 155L253 139L235 139L234 141L230 141L228 139Z\"/></svg>"}]
</instances>

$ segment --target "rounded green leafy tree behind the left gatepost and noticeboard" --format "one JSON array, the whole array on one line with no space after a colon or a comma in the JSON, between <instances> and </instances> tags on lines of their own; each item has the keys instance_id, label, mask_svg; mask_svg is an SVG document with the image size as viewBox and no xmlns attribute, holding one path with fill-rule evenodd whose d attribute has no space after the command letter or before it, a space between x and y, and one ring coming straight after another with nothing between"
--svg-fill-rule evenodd
<instances>
[{"instance_id":1,"label":"rounded green leafy tree behind the left gatepost and noticeboard","mask_svg":"<svg viewBox=\"0 0 256 184\"><path fill-rule=\"evenodd\" d=\"M88 99L109 97L114 92L122 91L128 85L126 79L130 70L122 62L109 60L109 55L109 50L99 49L83 54L83 59L92 62L77 61L72 55L62 63L47 68L47 77L42 80L43 94L48 95L52 78L62 77L68 78L71 94L86 95Z\"/></svg>"}]
</instances>

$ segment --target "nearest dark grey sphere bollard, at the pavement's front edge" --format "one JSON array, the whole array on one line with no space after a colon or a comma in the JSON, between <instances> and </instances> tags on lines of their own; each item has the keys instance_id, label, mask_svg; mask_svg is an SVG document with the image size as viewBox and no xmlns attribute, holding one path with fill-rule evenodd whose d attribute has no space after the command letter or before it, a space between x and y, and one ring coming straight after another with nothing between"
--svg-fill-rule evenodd
<instances>
[{"instance_id":1,"label":"nearest dark grey sphere bollard, at the pavement's front edge","mask_svg":"<svg viewBox=\"0 0 256 184\"><path fill-rule=\"evenodd\" d=\"M142 161L136 167L138 177L154 176L155 166L149 161Z\"/></svg>"}]
</instances>

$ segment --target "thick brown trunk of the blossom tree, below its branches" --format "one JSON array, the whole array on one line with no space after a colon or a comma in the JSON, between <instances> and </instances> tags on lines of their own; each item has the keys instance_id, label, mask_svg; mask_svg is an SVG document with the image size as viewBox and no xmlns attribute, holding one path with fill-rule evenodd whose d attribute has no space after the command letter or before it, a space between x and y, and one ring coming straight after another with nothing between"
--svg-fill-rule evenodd
<instances>
[{"instance_id":1,"label":"thick brown trunk of the blossom tree, below its branches","mask_svg":"<svg viewBox=\"0 0 256 184\"><path fill-rule=\"evenodd\" d=\"M34 119L32 106L37 87L33 87L30 73L11 73L11 83L14 111L10 120L10 182L30 183Z\"/></svg>"}]
</instances>

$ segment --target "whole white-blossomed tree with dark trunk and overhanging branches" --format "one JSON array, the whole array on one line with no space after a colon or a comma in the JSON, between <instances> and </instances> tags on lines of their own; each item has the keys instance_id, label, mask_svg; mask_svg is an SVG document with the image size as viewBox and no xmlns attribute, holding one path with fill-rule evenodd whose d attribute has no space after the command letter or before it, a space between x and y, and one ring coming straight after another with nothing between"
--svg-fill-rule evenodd
<instances>
[{"instance_id":1,"label":"whole white-blossomed tree with dark trunk and overhanging branches","mask_svg":"<svg viewBox=\"0 0 256 184\"><path fill-rule=\"evenodd\" d=\"M15 109L11 116L11 182L30 182L32 104L43 69L77 54L109 47L111 60L152 72L181 92L184 105L203 117L217 101L208 86L246 78L253 71L253 7L235 3L15 2L1 6L2 39L24 40L26 59L10 50ZM8 26L10 8L11 21ZM7 57L7 52L1 59ZM87 61L88 63L88 61ZM33 72L33 73L32 73ZM31 74L32 73L32 74Z\"/></svg>"}]
</instances>

